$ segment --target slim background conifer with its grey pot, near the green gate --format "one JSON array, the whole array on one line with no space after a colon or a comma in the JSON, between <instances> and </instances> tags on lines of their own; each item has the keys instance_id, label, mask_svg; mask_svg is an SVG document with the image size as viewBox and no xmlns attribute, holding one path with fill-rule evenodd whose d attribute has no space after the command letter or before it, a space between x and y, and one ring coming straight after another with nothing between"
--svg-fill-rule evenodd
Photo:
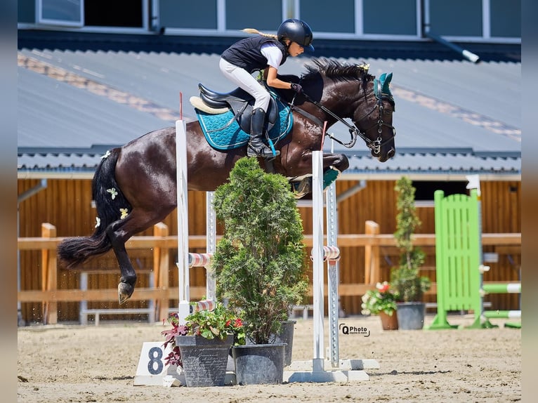
<instances>
[{"instance_id":1,"label":"slim background conifer with its grey pot, near the green gate","mask_svg":"<svg viewBox=\"0 0 538 403\"><path fill-rule=\"evenodd\" d=\"M413 246L412 235L421 222L414 206L415 188L406 176L396 182L398 192L396 216L396 245L400 248L400 265L391 270L391 287L395 290L398 311L398 328L402 330L422 329L426 304L422 301L425 291L431 286L430 279L419 275L424 263L424 252Z\"/></svg>"}]
</instances>

